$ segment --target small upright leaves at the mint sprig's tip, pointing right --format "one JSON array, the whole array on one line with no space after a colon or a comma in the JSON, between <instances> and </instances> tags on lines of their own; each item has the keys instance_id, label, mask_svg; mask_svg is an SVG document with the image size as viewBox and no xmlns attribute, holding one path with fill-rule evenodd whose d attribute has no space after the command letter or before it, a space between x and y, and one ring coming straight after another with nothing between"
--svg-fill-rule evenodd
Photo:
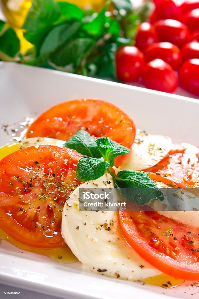
<instances>
[{"instance_id":1,"label":"small upright leaves at the mint sprig's tip, pointing right","mask_svg":"<svg viewBox=\"0 0 199 299\"><path fill-rule=\"evenodd\" d=\"M130 149L112 141L108 137L99 137L95 142L106 161L113 160L118 156L124 156L130 152Z\"/></svg>"}]
</instances>

